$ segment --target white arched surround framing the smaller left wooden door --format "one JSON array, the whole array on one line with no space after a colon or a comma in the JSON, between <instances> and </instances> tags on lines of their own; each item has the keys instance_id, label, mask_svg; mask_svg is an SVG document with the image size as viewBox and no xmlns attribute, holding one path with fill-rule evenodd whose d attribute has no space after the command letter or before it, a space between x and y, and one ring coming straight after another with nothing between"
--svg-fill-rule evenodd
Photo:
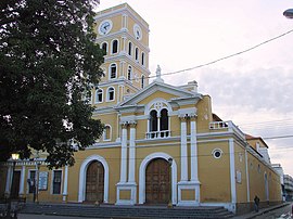
<instances>
[{"instance_id":1,"label":"white arched surround framing the smaller left wooden door","mask_svg":"<svg viewBox=\"0 0 293 219\"><path fill-rule=\"evenodd\" d=\"M88 156L81 164L79 169L79 185L78 185L78 202L81 203L86 198L86 180L87 180L87 169L91 162L101 162L104 167L104 203L109 202L109 165L104 157L93 154Z\"/></svg>"}]
</instances>

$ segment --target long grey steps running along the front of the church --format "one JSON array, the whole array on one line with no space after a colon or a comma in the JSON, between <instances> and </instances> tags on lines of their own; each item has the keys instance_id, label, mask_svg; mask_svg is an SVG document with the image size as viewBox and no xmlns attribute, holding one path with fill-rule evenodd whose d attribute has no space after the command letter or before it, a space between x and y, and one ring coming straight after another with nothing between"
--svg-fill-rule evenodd
<instances>
[{"instance_id":1,"label":"long grey steps running along the front of the church","mask_svg":"<svg viewBox=\"0 0 293 219\"><path fill-rule=\"evenodd\" d=\"M29 204L21 214L55 215L88 218L146 219L146 218L231 218L224 207L114 206L86 204Z\"/></svg>"}]
</instances>

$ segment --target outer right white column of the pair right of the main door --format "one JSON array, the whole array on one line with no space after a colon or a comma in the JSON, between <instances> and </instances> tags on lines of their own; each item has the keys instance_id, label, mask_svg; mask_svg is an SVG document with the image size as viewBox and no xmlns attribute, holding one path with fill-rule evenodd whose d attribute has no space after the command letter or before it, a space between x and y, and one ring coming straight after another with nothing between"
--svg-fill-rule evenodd
<instances>
[{"instance_id":1,"label":"outer right white column of the pair right of the main door","mask_svg":"<svg viewBox=\"0 0 293 219\"><path fill-rule=\"evenodd\" d=\"M196 140L196 121L195 116L191 117L190 121L190 166L191 181L199 181L199 159L198 159L198 140Z\"/></svg>"}]
</instances>

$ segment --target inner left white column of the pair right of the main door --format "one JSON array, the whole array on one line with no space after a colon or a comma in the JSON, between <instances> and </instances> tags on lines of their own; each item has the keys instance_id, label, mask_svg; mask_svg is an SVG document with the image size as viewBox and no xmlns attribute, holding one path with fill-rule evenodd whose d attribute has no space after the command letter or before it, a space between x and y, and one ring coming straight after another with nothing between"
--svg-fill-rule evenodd
<instances>
[{"instance_id":1,"label":"inner left white column of the pair right of the main door","mask_svg":"<svg viewBox=\"0 0 293 219\"><path fill-rule=\"evenodd\" d=\"M181 181L188 180L187 119L181 117Z\"/></svg>"}]
</instances>

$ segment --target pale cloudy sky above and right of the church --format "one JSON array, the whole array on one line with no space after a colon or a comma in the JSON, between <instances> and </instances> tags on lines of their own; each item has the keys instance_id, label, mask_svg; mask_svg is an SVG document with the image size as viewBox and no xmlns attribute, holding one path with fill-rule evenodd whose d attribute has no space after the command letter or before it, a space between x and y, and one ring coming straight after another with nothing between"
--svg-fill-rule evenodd
<instances>
[{"instance_id":1,"label":"pale cloudy sky above and right of the church","mask_svg":"<svg viewBox=\"0 0 293 219\"><path fill-rule=\"evenodd\" d=\"M199 92L212 96L213 113L262 137L271 163L293 176L293 20L283 16L292 0L100 2L98 10L127 2L149 23L151 76L157 65L164 75L262 44L163 79L174 86L196 80Z\"/></svg>"}]
</instances>

